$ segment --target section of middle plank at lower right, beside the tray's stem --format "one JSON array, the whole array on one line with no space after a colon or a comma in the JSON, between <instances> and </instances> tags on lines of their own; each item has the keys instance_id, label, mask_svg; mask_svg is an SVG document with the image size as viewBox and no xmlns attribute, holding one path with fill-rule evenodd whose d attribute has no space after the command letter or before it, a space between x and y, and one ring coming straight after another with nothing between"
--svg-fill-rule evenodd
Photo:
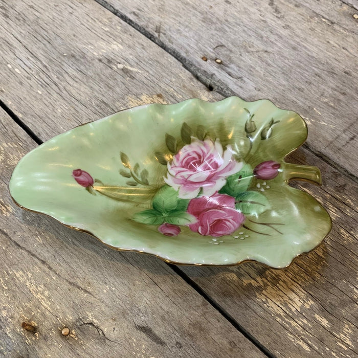
<instances>
[{"instance_id":1,"label":"section of middle plank at lower right, beside the tray's stem","mask_svg":"<svg viewBox=\"0 0 358 358\"><path fill-rule=\"evenodd\" d=\"M324 243L281 271L255 263L183 271L275 355L353 358L358 352L357 186L305 149L292 159L322 170L321 188L299 187L332 217Z\"/></svg>"}]
</instances>

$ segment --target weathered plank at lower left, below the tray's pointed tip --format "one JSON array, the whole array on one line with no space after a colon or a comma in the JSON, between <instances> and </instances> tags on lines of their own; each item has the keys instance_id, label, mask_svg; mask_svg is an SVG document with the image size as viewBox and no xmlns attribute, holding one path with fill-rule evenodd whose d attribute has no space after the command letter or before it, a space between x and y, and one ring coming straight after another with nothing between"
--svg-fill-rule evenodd
<instances>
[{"instance_id":1,"label":"weathered plank at lower left, below the tray's pointed tip","mask_svg":"<svg viewBox=\"0 0 358 358\"><path fill-rule=\"evenodd\" d=\"M160 259L16 207L10 175L36 144L3 110L0 143L1 356L264 356Z\"/></svg>"}]
</instances>

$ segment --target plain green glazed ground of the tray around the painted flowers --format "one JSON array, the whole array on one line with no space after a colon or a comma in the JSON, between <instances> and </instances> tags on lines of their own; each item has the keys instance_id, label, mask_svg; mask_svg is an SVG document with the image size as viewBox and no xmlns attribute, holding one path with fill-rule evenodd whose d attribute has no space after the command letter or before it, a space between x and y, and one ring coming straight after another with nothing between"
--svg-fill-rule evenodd
<instances>
[{"instance_id":1,"label":"plain green glazed ground of the tray around the painted flowers","mask_svg":"<svg viewBox=\"0 0 358 358\"><path fill-rule=\"evenodd\" d=\"M165 133L180 139L183 122L195 128L202 124L212 139L231 144L239 156L245 156L249 142L244 132L248 108L255 114L257 126L253 148L245 159L252 167L267 161L280 162L282 172L267 184L264 192L272 209L259 217L259 222L280 222L278 234L269 227L248 222L265 236L239 229L250 236L244 240L223 236L218 245L212 238L183 228L177 237L166 237L156 227L131 220L134 213L149 208L120 203L102 195L91 195L78 185L72 170L81 168L108 185L126 186L119 175L124 169L119 152L125 152L131 163L140 163L149 171L149 183L163 184L166 167L156 162L155 151L168 152ZM272 137L261 140L260 129L280 120L273 127ZM230 134L231 133L231 134ZM237 97L209 103L189 99L177 104L149 104L120 111L101 120L76 127L24 156L10 181L10 192L16 202L27 209L48 214L78 229L91 232L104 243L116 248L143 251L165 260L187 264L226 265L243 260L257 260L273 267L285 267L299 254L314 249L329 232L331 220L326 210L306 192L287 185L292 177L319 182L317 168L298 170L285 167L284 157L306 139L303 119L293 111L277 108L268 100L245 102ZM230 138L228 138L230 137ZM286 168L286 169L285 169ZM260 181L262 182L262 181ZM255 188L254 180L252 187Z\"/></svg>"}]
</instances>

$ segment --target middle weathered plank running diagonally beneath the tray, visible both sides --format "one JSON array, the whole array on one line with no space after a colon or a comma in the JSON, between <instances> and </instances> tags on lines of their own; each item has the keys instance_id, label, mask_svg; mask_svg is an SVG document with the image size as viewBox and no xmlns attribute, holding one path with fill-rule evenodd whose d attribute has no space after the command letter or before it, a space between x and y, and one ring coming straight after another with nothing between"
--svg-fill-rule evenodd
<instances>
[{"instance_id":1,"label":"middle weathered plank running diagonally beneath the tray, visible both sides","mask_svg":"<svg viewBox=\"0 0 358 358\"><path fill-rule=\"evenodd\" d=\"M0 98L42 140L139 101L221 98L207 91L164 50L93 2L77 2L74 6L62 1L56 3L56 9L42 1L30 5L12 3L0 10L6 29L2 43L5 50L0 54ZM278 96L285 98L285 94ZM338 135L344 129L342 123ZM315 125L312 122L311 126ZM356 259L352 234L356 219L352 216L356 214L356 191L346 176L309 151L300 149L300 153L296 161L318 165L324 174L322 189L309 186L306 190L318 197L333 217L333 231L325 245L298 259L286 271L255 264L181 269L276 355L354 356ZM43 235L49 235L46 233L53 222L43 220L31 216L26 225L31 229L39 223ZM64 235L65 228L55 228L56 236ZM49 243L56 240L54 236L50 233ZM77 244L76 249L81 250L73 252L73 261L88 250L87 243ZM69 243L66 250L71 247ZM133 264L142 267L137 258L140 255L121 255L134 258ZM103 264L101 260L97 264ZM146 260L153 265L155 259ZM66 275L70 270L66 265L61 269ZM102 273L108 275L107 267Z\"/></svg>"}]
</instances>

